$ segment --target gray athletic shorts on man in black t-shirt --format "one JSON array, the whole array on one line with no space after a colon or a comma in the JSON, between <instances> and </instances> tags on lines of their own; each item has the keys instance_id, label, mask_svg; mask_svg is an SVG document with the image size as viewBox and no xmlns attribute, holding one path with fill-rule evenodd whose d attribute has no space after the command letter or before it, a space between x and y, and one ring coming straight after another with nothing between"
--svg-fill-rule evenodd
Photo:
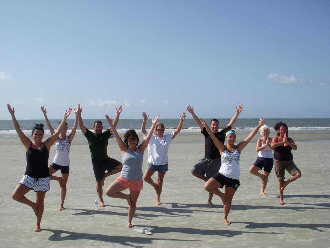
<instances>
[{"instance_id":1,"label":"gray athletic shorts on man in black t-shirt","mask_svg":"<svg viewBox=\"0 0 330 248\"><path fill-rule=\"evenodd\" d=\"M198 164L192 167L191 172L201 176L206 174L206 179L209 179L219 172L220 166L220 158L202 158Z\"/></svg>"}]
</instances>

